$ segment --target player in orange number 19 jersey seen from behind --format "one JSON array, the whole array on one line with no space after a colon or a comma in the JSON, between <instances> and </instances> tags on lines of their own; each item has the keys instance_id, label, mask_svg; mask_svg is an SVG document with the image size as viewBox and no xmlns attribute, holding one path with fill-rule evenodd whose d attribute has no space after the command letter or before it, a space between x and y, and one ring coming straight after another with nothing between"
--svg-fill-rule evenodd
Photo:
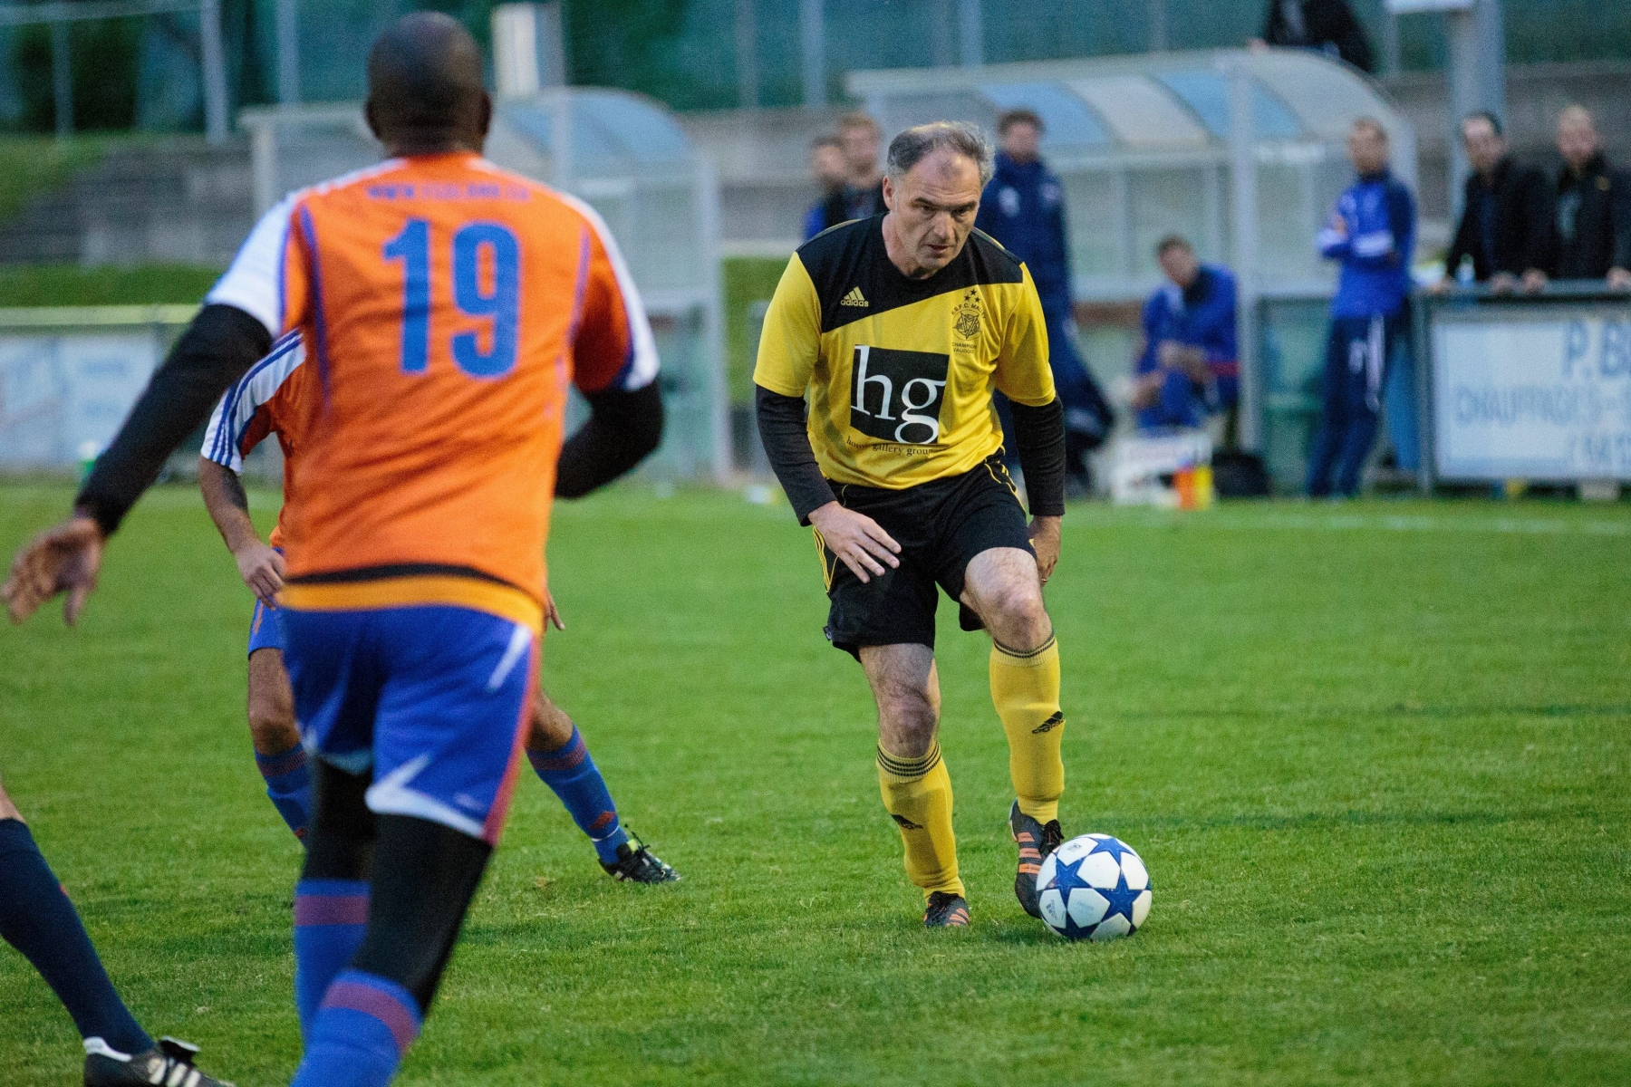
<instances>
[{"instance_id":1,"label":"player in orange number 19 jersey seen from behind","mask_svg":"<svg viewBox=\"0 0 1631 1087\"><path fill-rule=\"evenodd\" d=\"M457 21L385 31L367 116L391 158L261 220L75 517L3 588L15 619L67 592L72 621L163 458L274 336L300 331L320 394L279 595L316 771L295 891L298 1087L390 1082L497 841L568 385L594 412L572 473L612 477L661 433L656 352L612 240L584 205L481 160L491 109Z\"/></svg>"}]
</instances>

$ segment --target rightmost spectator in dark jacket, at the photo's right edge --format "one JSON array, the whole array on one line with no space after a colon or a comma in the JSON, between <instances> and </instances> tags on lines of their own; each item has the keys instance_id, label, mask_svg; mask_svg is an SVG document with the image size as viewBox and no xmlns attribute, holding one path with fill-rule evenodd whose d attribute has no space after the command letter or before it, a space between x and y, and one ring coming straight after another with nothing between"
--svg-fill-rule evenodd
<instances>
[{"instance_id":1,"label":"rightmost spectator in dark jacket, at the photo's right edge","mask_svg":"<svg viewBox=\"0 0 1631 1087\"><path fill-rule=\"evenodd\" d=\"M1631 178L1608 165L1584 106L1558 116L1558 152L1553 279L1607 279L1611 290L1631 288Z\"/></svg>"}]
</instances>

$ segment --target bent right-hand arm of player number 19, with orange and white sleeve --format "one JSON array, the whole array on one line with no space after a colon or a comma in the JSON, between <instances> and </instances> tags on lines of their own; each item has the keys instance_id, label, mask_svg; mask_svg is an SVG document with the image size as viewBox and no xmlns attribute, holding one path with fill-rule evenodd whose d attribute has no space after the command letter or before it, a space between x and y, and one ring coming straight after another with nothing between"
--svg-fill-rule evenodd
<instances>
[{"instance_id":1,"label":"bent right-hand arm of player number 19, with orange and white sleeve","mask_svg":"<svg viewBox=\"0 0 1631 1087\"><path fill-rule=\"evenodd\" d=\"M581 499L646 460L662 442L657 345L617 241L594 212L584 313L574 342L589 420L561 447L555 494Z\"/></svg>"}]
</instances>

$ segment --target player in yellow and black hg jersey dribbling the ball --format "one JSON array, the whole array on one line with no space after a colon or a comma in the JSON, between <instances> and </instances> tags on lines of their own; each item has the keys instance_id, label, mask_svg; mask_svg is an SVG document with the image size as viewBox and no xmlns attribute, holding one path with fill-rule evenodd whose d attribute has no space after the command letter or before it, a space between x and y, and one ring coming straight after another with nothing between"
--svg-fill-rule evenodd
<instances>
[{"instance_id":1,"label":"player in yellow and black hg jersey dribbling the ball","mask_svg":"<svg viewBox=\"0 0 1631 1087\"><path fill-rule=\"evenodd\" d=\"M816 530L827 637L861 662L877 702L877 781L930 927L969 924L936 742L936 587L961 605L962 629L992 636L992 701L1018 795L1014 893L1031 916L1037 869L1063 838L1065 719L1042 583L1059 562L1065 424L1031 274L974 230L990 174L975 125L897 135L887 213L793 256L754 372L771 466ZM995 389L1014 406L1029 525L1003 469Z\"/></svg>"}]
</instances>

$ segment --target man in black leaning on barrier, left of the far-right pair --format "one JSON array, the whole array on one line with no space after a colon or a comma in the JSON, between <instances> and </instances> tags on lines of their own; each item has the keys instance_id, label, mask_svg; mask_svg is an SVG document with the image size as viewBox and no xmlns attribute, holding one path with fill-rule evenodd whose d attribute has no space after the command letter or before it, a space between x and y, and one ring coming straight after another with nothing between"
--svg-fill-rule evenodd
<instances>
[{"instance_id":1,"label":"man in black leaning on barrier, left of the far-right pair","mask_svg":"<svg viewBox=\"0 0 1631 1087\"><path fill-rule=\"evenodd\" d=\"M1445 257L1435 292L1455 287L1471 257L1473 279L1491 290L1535 292L1546 285L1551 264L1551 196L1546 176L1507 153L1501 121L1474 112L1461 122L1461 143L1473 173L1466 179L1461 225Z\"/></svg>"}]
</instances>

